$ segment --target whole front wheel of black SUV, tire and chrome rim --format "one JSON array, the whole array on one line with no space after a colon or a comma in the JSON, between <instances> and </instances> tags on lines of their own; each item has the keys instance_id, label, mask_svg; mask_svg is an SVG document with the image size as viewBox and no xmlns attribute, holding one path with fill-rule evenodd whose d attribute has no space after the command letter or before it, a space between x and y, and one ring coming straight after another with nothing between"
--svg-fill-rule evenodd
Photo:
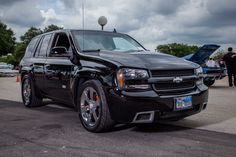
<instances>
[{"instance_id":1,"label":"whole front wheel of black SUV, tire and chrome rim","mask_svg":"<svg viewBox=\"0 0 236 157\"><path fill-rule=\"evenodd\" d=\"M110 117L102 84L86 81L78 92L78 111L82 125L91 132L103 132L114 125Z\"/></svg>"}]
</instances>

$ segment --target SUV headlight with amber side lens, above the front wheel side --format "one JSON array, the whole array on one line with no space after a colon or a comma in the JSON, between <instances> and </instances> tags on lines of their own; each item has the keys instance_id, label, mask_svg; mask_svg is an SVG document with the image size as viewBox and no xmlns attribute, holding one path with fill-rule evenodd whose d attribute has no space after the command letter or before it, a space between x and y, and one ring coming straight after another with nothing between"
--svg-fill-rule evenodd
<instances>
[{"instance_id":1,"label":"SUV headlight with amber side lens, above the front wheel side","mask_svg":"<svg viewBox=\"0 0 236 157\"><path fill-rule=\"evenodd\" d=\"M149 78L147 70L123 68L117 72L117 85L119 89L149 89L145 82Z\"/></svg>"}]
</instances>

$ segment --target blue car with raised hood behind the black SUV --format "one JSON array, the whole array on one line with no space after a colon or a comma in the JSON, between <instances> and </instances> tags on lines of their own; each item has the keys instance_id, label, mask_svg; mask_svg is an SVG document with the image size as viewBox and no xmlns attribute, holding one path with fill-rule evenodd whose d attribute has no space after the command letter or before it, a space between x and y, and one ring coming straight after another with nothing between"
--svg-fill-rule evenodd
<instances>
[{"instance_id":1,"label":"blue car with raised hood behind the black SUV","mask_svg":"<svg viewBox=\"0 0 236 157\"><path fill-rule=\"evenodd\" d=\"M209 57L219 48L219 45L208 44L203 45L194 54L189 54L183 58L191 62L201 65L203 73L205 74L204 83L207 86L211 86L215 83L215 80L222 79L226 76L226 68L216 64L214 67L209 67L207 61Z\"/></svg>"}]
</instances>

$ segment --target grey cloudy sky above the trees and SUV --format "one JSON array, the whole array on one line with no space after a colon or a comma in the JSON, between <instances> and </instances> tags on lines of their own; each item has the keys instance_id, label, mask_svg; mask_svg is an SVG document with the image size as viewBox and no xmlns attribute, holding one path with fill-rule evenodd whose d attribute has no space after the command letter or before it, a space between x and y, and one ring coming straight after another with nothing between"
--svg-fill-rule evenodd
<instances>
[{"instance_id":1,"label":"grey cloudy sky above the trees and SUV","mask_svg":"<svg viewBox=\"0 0 236 157\"><path fill-rule=\"evenodd\" d=\"M0 0L0 20L19 38L29 27L82 28L82 0ZM236 48L236 0L84 0L85 28L116 28L147 49L172 42Z\"/></svg>"}]
</instances>

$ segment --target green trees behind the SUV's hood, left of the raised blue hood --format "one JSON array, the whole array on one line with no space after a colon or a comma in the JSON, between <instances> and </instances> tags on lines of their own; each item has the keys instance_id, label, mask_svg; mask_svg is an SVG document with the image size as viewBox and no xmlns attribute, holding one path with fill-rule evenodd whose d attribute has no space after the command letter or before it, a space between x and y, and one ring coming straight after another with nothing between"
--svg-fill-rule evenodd
<instances>
[{"instance_id":1,"label":"green trees behind the SUV's hood, left of the raised blue hood","mask_svg":"<svg viewBox=\"0 0 236 157\"><path fill-rule=\"evenodd\" d=\"M198 46L195 45L187 45L187 44L180 44L180 43L171 43L171 44L164 44L158 45L156 47L157 51L162 53L174 55L177 57L183 57L188 54L194 53L199 49Z\"/></svg>"}]
</instances>

